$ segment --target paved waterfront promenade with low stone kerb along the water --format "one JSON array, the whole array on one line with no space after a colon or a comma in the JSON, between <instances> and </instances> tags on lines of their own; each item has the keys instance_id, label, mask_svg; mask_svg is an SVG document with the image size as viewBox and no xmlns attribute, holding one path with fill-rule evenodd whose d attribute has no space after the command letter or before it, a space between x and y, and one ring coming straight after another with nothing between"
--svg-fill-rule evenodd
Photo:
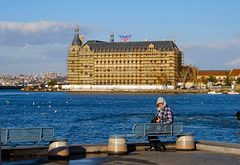
<instances>
[{"instance_id":1,"label":"paved waterfront promenade with low stone kerb along the water","mask_svg":"<svg viewBox=\"0 0 240 165\"><path fill-rule=\"evenodd\" d=\"M236 143L223 143L214 141L196 141L195 151L176 151L174 149L174 143L166 144L167 151L145 151L149 144L130 144L130 148L135 148L128 155L108 155L107 144L92 144L92 145L70 145L70 152L72 153L69 160L65 161L53 161L48 160L47 157L30 158L32 160L21 160L18 157L18 161L4 160L2 164L69 164L69 165L147 165L147 164L161 164L161 165L235 165L240 164L240 144ZM133 147L134 146L134 147ZM2 148L3 152L9 150L9 148ZM12 148L13 149L13 148ZM14 149L13 149L14 150ZM27 150L28 153L37 151L44 153L47 151L46 147L39 148L24 148L16 147L15 154L23 153ZM20 155L19 155L20 156ZM20 161L19 161L20 159Z\"/></svg>"}]
</instances>

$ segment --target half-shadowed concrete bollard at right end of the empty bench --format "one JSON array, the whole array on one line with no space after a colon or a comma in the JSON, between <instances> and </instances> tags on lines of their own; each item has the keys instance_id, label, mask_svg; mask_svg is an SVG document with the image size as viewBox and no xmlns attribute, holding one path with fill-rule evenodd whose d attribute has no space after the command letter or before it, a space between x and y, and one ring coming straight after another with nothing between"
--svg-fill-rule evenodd
<instances>
[{"instance_id":1,"label":"half-shadowed concrete bollard at right end of the empty bench","mask_svg":"<svg viewBox=\"0 0 240 165\"><path fill-rule=\"evenodd\" d=\"M67 159L69 157L68 139L50 141L48 157L50 159Z\"/></svg>"}]
</instances>

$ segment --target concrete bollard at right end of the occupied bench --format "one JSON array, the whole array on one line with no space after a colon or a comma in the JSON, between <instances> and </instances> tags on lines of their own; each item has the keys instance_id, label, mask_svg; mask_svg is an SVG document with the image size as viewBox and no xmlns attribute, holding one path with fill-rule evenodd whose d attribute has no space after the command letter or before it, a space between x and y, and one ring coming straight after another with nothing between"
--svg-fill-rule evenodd
<instances>
[{"instance_id":1,"label":"concrete bollard at right end of the occupied bench","mask_svg":"<svg viewBox=\"0 0 240 165\"><path fill-rule=\"evenodd\" d=\"M180 135L176 141L176 150L192 151L195 150L193 134Z\"/></svg>"}]
</instances>

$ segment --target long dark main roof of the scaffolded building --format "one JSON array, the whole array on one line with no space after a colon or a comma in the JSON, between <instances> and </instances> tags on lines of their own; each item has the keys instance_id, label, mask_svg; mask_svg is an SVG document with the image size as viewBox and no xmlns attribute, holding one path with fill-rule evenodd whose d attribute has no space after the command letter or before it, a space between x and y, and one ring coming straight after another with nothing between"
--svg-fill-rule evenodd
<instances>
[{"instance_id":1,"label":"long dark main roof of the scaffolded building","mask_svg":"<svg viewBox=\"0 0 240 165\"><path fill-rule=\"evenodd\" d=\"M147 49L150 44L153 44L155 49L162 49L166 51L173 51L177 46L173 41L142 41L142 42L104 42L104 41L87 41L85 45L90 46L92 49L110 49L110 48L143 48Z\"/></svg>"}]
</instances>

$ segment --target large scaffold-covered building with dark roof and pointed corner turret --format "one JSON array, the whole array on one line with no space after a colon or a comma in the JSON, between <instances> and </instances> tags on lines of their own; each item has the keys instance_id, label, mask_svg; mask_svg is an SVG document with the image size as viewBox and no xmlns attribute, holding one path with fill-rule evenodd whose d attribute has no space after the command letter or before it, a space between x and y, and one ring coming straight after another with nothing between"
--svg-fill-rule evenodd
<instances>
[{"instance_id":1,"label":"large scaffold-covered building with dark roof and pointed corner turret","mask_svg":"<svg viewBox=\"0 0 240 165\"><path fill-rule=\"evenodd\" d=\"M182 52L175 41L110 42L79 38L68 55L69 85L176 85Z\"/></svg>"}]
</instances>

